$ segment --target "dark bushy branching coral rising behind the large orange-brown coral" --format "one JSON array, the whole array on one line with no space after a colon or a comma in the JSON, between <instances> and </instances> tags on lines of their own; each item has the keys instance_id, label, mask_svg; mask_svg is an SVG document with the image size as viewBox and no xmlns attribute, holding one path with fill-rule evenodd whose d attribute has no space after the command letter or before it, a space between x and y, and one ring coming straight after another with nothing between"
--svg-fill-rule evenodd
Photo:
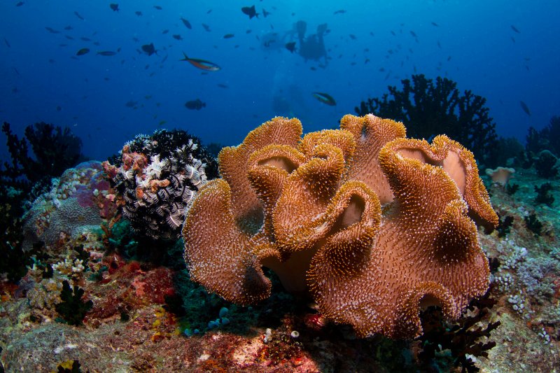
<instances>
[{"instance_id":1,"label":"dark bushy branching coral rising behind the large orange-brown coral","mask_svg":"<svg viewBox=\"0 0 560 373\"><path fill-rule=\"evenodd\" d=\"M407 126L409 136L419 139L447 134L475 153L479 163L486 167L498 165L496 125L484 106L486 99L470 90L461 94L457 83L439 76L434 82L423 74L413 75L412 81L405 79L401 83L402 90L390 86L389 93L380 99L362 101L356 113L400 120Z\"/></svg>"}]
</instances>

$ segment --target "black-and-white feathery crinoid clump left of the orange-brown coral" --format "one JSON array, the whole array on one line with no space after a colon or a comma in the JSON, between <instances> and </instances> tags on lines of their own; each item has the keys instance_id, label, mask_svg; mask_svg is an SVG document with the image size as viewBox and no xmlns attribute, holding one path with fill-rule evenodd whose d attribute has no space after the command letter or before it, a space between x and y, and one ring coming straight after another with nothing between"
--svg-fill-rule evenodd
<instances>
[{"instance_id":1,"label":"black-and-white feathery crinoid clump left of the orange-brown coral","mask_svg":"<svg viewBox=\"0 0 560 373\"><path fill-rule=\"evenodd\" d=\"M139 134L109 162L104 168L123 216L152 239L179 238L186 207L218 174L216 160L200 140L180 129Z\"/></svg>"}]
</instances>

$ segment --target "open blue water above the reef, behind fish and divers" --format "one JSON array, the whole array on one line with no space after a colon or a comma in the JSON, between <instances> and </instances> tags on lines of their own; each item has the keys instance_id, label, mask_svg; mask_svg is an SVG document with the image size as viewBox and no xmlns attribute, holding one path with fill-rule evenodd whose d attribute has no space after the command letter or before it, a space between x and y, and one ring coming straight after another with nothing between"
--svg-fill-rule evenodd
<instances>
[{"instance_id":1,"label":"open blue water above the reef, behind fish and divers","mask_svg":"<svg viewBox=\"0 0 560 373\"><path fill-rule=\"evenodd\" d=\"M223 145L240 143L275 115L300 118L306 132L335 127L360 101L380 97L388 85L400 86L414 69L428 78L447 76L460 90L486 97L502 136L523 141L528 127L540 129L560 115L557 0L130 0L118 1L118 12L111 1L23 2L0 2L0 120L20 136L38 121L69 126L83 139L83 153L99 160L135 134L161 127L186 129L204 143ZM241 12L251 5L259 17ZM262 8L271 14L263 17ZM283 35L299 20L307 22L307 35L328 24L326 66L305 62L282 45L262 48L265 34ZM149 43L157 55L137 51ZM80 48L90 52L76 56ZM97 55L118 48L114 56ZM221 70L181 62L183 52ZM316 100L315 91L332 95L336 106ZM274 105L274 97L281 104ZM184 106L195 99L206 107ZM137 101L136 108L126 106L129 101Z\"/></svg>"}]
</instances>

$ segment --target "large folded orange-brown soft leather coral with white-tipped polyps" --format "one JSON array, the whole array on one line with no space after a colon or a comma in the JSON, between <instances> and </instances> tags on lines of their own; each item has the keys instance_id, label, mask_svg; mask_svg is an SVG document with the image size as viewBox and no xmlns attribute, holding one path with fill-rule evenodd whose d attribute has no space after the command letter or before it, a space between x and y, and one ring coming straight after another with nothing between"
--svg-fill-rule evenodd
<instances>
[{"instance_id":1,"label":"large folded orange-brown soft leather coral with white-tipped polyps","mask_svg":"<svg viewBox=\"0 0 560 373\"><path fill-rule=\"evenodd\" d=\"M249 304L269 296L269 267L360 337L417 337L430 304L458 318L489 286L475 221L498 223L472 153L371 114L340 127L301 138L274 118L222 150L183 226L192 279Z\"/></svg>"}]
</instances>

